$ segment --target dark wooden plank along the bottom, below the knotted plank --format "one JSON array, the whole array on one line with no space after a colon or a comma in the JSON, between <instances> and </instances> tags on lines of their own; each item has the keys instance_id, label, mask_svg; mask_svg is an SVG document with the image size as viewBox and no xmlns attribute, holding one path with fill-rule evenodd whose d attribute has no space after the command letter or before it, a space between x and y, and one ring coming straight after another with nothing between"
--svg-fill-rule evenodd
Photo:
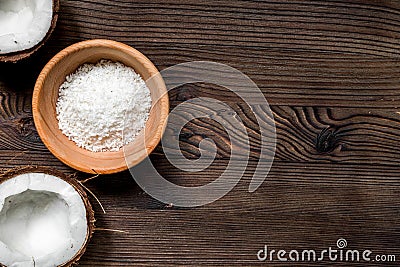
<instances>
[{"instance_id":1,"label":"dark wooden plank along the bottom, below the knotted plank","mask_svg":"<svg viewBox=\"0 0 400 267\"><path fill-rule=\"evenodd\" d=\"M153 161L164 177L186 186L216 178L226 165L185 174L163 157ZM128 233L97 232L81 264L254 266L260 245L322 250L340 237L354 249L397 252L399 170L384 173L379 166L274 164L255 193L247 191L247 174L224 198L190 210L153 200L128 173L100 177L88 185L107 211L97 214L97 226Z\"/></svg>"}]
</instances>

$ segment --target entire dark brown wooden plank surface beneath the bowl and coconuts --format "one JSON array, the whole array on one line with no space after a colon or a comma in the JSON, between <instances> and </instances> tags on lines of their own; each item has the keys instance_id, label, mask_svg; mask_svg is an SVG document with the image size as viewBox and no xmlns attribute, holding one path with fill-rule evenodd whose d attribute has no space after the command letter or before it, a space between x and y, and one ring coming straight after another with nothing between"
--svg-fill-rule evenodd
<instances>
[{"instance_id":1,"label":"entire dark brown wooden plank surface beneath the bowl and coconuts","mask_svg":"<svg viewBox=\"0 0 400 267\"><path fill-rule=\"evenodd\" d=\"M32 164L74 173L40 141L30 98L52 56L93 38L127 43L160 70L195 60L239 69L271 104L277 150L268 178L249 193L259 156L249 106L216 86L177 88L172 108L207 96L237 111L252 146L246 174L224 198L190 209L154 200L128 172L90 181L107 212L91 199L97 227L125 232L97 231L81 266L269 266L256 256L264 245L318 250L336 247L339 238L350 249L400 261L400 1L61 0L57 28L39 53L0 64L1 168ZM182 130L189 158L199 156L203 138L217 143L217 159L201 173L175 169L161 148L151 159L171 181L204 184L229 160L224 134L204 120Z\"/></svg>"}]
</instances>

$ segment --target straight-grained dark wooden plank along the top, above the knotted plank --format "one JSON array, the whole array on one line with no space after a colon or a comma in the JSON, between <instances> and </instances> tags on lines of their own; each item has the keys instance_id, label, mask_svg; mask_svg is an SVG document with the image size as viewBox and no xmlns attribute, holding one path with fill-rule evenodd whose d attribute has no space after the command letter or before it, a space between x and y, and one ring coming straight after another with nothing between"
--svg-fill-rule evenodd
<instances>
[{"instance_id":1,"label":"straight-grained dark wooden plank along the top, above the knotted plank","mask_svg":"<svg viewBox=\"0 0 400 267\"><path fill-rule=\"evenodd\" d=\"M168 2L62 1L45 49L22 65L1 65L0 77L27 73L32 88L62 48L109 38L138 48L160 69L194 60L229 64L273 105L399 106L396 3Z\"/></svg>"}]
</instances>

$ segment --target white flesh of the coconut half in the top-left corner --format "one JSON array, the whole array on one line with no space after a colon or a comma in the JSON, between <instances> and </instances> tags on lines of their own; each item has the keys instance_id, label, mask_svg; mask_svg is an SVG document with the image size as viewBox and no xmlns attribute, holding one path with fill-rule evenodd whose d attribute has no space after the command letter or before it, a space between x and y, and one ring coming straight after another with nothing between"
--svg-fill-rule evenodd
<instances>
[{"instance_id":1,"label":"white flesh of the coconut half in the top-left corner","mask_svg":"<svg viewBox=\"0 0 400 267\"><path fill-rule=\"evenodd\" d=\"M39 44L52 17L52 0L0 0L0 55Z\"/></svg>"}]
</instances>

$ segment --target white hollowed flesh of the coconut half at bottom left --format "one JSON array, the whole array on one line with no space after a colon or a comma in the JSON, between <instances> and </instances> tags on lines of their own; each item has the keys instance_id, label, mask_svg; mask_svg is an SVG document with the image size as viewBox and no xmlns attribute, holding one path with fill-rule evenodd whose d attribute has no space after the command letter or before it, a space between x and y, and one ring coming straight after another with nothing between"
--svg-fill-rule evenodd
<instances>
[{"instance_id":1,"label":"white hollowed flesh of the coconut half at bottom left","mask_svg":"<svg viewBox=\"0 0 400 267\"><path fill-rule=\"evenodd\" d=\"M58 266L80 251L88 224L73 186L44 174L21 174L0 184L0 263Z\"/></svg>"}]
</instances>

